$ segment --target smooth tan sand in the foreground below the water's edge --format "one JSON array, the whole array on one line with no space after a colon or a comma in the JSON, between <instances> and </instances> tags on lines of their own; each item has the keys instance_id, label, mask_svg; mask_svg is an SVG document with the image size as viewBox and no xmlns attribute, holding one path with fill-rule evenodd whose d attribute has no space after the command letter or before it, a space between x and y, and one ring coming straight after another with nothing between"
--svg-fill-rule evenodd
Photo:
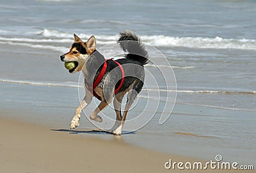
<instances>
[{"instance_id":1,"label":"smooth tan sand in the foreground below the water's edge","mask_svg":"<svg viewBox=\"0 0 256 173\"><path fill-rule=\"evenodd\" d=\"M193 158L157 153L119 140L106 141L53 131L36 124L0 118L0 172L238 172L166 170L169 158ZM246 172L246 171L241 171ZM252 172L252 171L250 171Z\"/></svg>"}]
</instances>

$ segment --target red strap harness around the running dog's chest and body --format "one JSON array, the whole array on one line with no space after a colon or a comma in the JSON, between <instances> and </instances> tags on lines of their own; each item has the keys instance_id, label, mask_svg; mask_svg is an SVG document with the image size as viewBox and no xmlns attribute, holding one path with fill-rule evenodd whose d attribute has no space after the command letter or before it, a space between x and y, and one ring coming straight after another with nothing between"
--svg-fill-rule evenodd
<instances>
[{"instance_id":1,"label":"red strap harness around the running dog's chest and body","mask_svg":"<svg viewBox=\"0 0 256 173\"><path fill-rule=\"evenodd\" d=\"M93 82L92 84L92 91L93 91L93 96L95 96L98 100L101 100L101 97L94 91L94 89L99 85L100 80L102 79L102 77L104 76L108 63L107 61L114 61L112 59L105 59L104 64L102 69L100 70L100 73L97 77L97 79ZM121 79L121 83L120 85L115 89L114 93L117 93L117 91L119 91L119 89L122 87L122 85L124 84L124 68L122 67L122 65L120 63L118 63L117 61L114 61L120 68L121 72L122 72L122 79ZM87 84L85 84L85 86L87 87L87 89L89 88L87 86ZM89 89L90 90L90 89Z\"/></svg>"}]
</instances>

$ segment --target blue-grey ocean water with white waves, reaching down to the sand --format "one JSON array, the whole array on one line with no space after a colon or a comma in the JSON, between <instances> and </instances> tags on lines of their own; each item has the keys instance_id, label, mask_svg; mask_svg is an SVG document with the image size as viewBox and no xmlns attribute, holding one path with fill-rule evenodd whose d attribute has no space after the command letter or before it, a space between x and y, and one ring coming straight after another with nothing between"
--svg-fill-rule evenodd
<instances>
[{"instance_id":1,"label":"blue-grey ocean water with white waves, reaching down to the sand","mask_svg":"<svg viewBox=\"0 0 256 173\"><path fill-rule=\"evenodd\" d=\"M59 56L68 51L74 33L84 41L95 35L106 57L120 54L118 33L131 29L161 52L150 50L153 63L145 68L158 79L158 68L174 71L177 91L174 80L160 91L164 83L149 80L138 103L148 100L145 91L152 104L159 102L158 92L168 93L170 109L122 139L167 153L202 158L223 153L227 160L255 163L256 1L13 0L1 2L0 13L2 111L68 128L81 81ZM172 116L159 125L176 93ZM131 112L140 109L138 104ZM93 127L85 118L83 123L81 128Z\"/></svg>"}]
</instances>

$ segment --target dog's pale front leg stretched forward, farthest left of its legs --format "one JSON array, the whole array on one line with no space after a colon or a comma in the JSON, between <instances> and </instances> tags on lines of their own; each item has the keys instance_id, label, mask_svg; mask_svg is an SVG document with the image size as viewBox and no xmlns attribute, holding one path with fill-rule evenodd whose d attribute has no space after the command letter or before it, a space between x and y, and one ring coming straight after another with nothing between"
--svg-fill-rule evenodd
<instances>
[{"instance_id":1,"label":"dog's pale front leg stretched forward, farthest left of its legs","mask_svg":"<svg viewBox=\"0 0 256 173\"><path fill-rule=\"evenodd\" d=\"M71 123L70 123L70 129L76 128L77 126L79 126L79 121L81 118L81 111L86 108L88 105L90 105L90 103L92 102L92 93L90 91L88 91L88 89L85 89L85 96L83 101L81 102L81 105L79 105L79 107L77 107L76 109L76 113L75 116L73 117Z\"/></svg>"}]
</instances>

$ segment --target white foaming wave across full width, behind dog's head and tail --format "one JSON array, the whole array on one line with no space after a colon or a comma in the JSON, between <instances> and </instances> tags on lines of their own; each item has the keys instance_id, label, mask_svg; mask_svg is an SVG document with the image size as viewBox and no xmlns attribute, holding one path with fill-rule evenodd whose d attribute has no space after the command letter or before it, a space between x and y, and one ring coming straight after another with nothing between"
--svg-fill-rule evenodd
<instances>
[{"instance_id":1,"label":"white foaming wave across full width, behind dog's head and tail","mask_svg":"<svg viewBox=\"0 0 256 173\"><path fill-rule=\"evenodd\" d=\"M8 31L3 30L0 32L3 35L8 35ZM29 33L29 34L28 34ZM9 38L0 37L0 41L17 41L26 43L70 43L73 41L73 33L67 33L63 31L56 31L52 29L44 29L40 31L28 31L24 33L25 38ZM90 34L79 34L77 35L82 40L90 38ZM28 38L29 36L29 38ZM118 34L115 35L96 35L97 43L109 44L116 43ZM164 35L141 35L141 39L152 46L161 47L188 47L195 49L239 49L239 50L256 50L256 40L249 39L236 39L236 38L221 38L216 36L215 38L204 38L204 37L173 37Z\"/></svg>"}]
</instances>

